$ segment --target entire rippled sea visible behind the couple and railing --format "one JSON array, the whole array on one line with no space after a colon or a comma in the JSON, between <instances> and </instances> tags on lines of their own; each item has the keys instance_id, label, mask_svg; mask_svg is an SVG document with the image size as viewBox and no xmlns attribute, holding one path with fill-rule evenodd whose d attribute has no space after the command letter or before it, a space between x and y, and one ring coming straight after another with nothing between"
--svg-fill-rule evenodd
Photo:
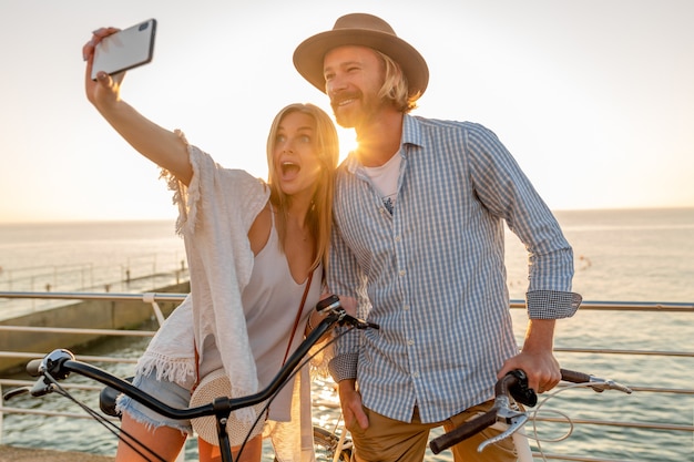
<instances>
[{"instance_id":1,"label":"entire rippled sea visible behind the couple and railing","mask_svg":"<svg viewBox=\"0 0 694 462\"><path fill-rule=\"evenodd\" d=\"M589 301L694 305L694 208L557 211L574 250L573 290ZM58 224L0 224L0 291L125 291L147 273L175 271L185 265L185 250L173 222L101 222ZM528 285L524 247L507 233L507 271L512 300L523 299ZM127 284L126 279L131 283ZM17 310L18 300L0 299L0 318ZM3 314L4 311L4 314ZM522 342L525 314L512 310ZM642 391L595 393L590 389L561 389L543 401L540 415L558 423L534 428L550 454L580 454L614 461L693 462L694 433L669 429L694 425L694 394L657 393L650 388L692 390L694 379L694 315L665 311L579 312L558 321L554 346L562 367L609 378ZM93 353L136 358L146 340L109 340ZM586 351L562 352L564 348ZM688 355L627 356L593 349L688 352ZM132 365L104 365L125 376ZM113 368L120 368L113 370ZM70 378L76 382L80 378ZM329 390L325 387L320 390ZM333 397L334 398L334 397ZM24 400L22 398L22 400ZM74 410L58 396L25 399L12 405ZM91 403L94 405L94 403ZM322 407L322 421L339 418L336 405ZM661 430L576 425L569 419L615 422L657 422ZM527 425L527 431L533 431ZM433 432L432 438L438 433ZM79 450L113 454L114 437L92 421L6 414L2 444ZM532 443L537 449L538 443ZM196 456L193 442L186 461ZM272 460L267 452L267 460ZM427 461L451 462L448 451L427 453Z\"/></svg>"}]
</instances>

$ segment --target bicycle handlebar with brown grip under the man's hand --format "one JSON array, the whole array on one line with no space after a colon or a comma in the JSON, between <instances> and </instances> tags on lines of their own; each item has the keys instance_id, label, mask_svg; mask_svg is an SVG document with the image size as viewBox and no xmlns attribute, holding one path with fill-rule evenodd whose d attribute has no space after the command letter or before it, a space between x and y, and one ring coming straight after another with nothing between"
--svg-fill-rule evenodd
<instances>
[{"instance_id":1,"label":"bicycle handlebar with brown grip under the man's hand","mask_svg":"<svg viewBox=\"0 0 694 462\"><path fill-rule=\"evenodd\" d=\"M625 393L631 393L632 390L629 387L619 384L612 380L600 379L588 373L578 372L568 369L561 369L561 378L564 381L573 383L588 383L596 392L604 390L619 390ZM503 440L518 431L529 417L525 412L521 412L511 408L510 398L513 397L518 402L533 407L538 402L538 396L534 390L528 388L528 377L522 370L513 370L499 379L494 386L494 404L492 408L462 423L460 427L435 438L429 443L429 448L435 454L448 449L461 441L467 440L473 434L479 433L488 427L493 425L496 422L504 422L510 427L501 434L482 442L478 451L481 452L488 444Z\"/></svg>"}]
</instances>

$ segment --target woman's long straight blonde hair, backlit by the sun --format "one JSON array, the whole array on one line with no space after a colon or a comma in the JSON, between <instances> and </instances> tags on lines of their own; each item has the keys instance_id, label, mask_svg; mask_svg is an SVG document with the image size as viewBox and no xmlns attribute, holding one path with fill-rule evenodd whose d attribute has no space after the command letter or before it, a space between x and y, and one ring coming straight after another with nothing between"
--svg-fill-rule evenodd
<instances>
[{"instance_id":1,"label":"woman's long straight blonde hair, backlit by the sun","mask_svg":"<svg viewBox=\"0 0 694 462\"><path fill-rule=\"evenodd\" d=\"M286 237L286 215L284 212L287 209L289 197L282 192L276 178L275 170L275 142L277 132L279 131L279 124L283 119L290 113L300 112L307 114L316 121L316 134L314 136L314 147L318 153L318 162L323 171L316 185L312 206L306 215L308 228L312 236L316 242L316 253L312 264L312 270L318 267L323 263L324 271L328 264L328 247L330 244L330 229L333 225L333 194L335 191L335 168L339 158L339 142L337 137L337 130L330 116L320 107L313 104L295 103L285 106L280 110L269 130L267 135L267 165L268 165L268 178L271 189L271 202L283 213L277 214L277 234L279 236L279 245L284 251L284 240Z\"/></svg>"}]
</instances>

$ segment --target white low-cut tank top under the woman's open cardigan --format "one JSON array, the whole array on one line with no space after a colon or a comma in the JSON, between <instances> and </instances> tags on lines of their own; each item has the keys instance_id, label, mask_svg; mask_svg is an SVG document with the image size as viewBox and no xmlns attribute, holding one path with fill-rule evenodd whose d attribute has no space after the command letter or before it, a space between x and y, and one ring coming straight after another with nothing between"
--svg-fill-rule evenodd
<instances>
[{"instance_id":1,"label":"white low-cut tank top under the woman's open cardigan","mask_svg":"<svg viewBox=\"0 0 694 462\"><path fill-rule=\"evenodd\" d=\"M279 372L306 287L306 281L296 284L292 277L287 257L279 247L274 212L271 215L272 227L267 244L255 256L251 280L242 294L248 341L255 358L261 389L267 387ZM289 355L304 339L306 320L318 302L322 273L322 266L314 271ZM220 351L212 336L205 340L203 351L205 360L200 367L201 379L222 368ZM271 403L271 420L279 422L290 420L292 388L293 382L290 381Z\"/></svg>"}]
</instances>

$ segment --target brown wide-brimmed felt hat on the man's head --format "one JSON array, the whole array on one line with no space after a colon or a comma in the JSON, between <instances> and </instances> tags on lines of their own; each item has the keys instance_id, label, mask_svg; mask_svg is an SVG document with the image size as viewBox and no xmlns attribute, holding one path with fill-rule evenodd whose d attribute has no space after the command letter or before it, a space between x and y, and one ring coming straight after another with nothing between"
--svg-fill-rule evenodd
<instances>
[{"instance_id":1,"label":"brown wide-brimmed felt hat on the man's head","mask_svg":"<svg viewBox=\"0 0 694 462\"><path fill-rule=\"evenodd\" d=\"M409 94L422 94L429 83L429 68L417 50L396 35L386 21L372 14L351 13L338 18L333 30L304 40L294 51L294 66L312 85L325 93L323 59L337 47L369 47L400 64Z\"/></svg>"}]
</instances>

